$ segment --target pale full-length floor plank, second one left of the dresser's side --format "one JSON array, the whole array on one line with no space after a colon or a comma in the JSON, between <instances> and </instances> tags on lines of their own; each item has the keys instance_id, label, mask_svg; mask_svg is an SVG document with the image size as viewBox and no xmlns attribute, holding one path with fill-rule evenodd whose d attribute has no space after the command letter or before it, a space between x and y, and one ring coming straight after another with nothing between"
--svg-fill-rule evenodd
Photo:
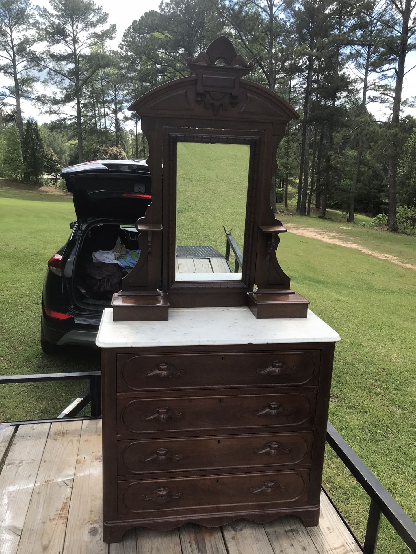
<instances>
[{"instance_id":1,"label":"pale full-length floor plank, second one left of the dresser's side","mask_svg":"<svg viewBox=\"0 0 416 554\"><path fill-rule=\"evenodd\" d=\"M18 554L62 552L81 428L81 421L50 426Z\"/></svg>"}]
</instances>

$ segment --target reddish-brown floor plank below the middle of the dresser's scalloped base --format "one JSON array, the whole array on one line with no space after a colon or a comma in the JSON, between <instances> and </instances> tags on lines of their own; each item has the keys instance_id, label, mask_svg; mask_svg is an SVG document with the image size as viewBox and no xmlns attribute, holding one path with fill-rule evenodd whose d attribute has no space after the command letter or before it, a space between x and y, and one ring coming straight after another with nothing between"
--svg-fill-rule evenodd
<instances>
[{"instance_id":1,"label":"reddish-brown floor plank below the middle of the dresser's scalloped base","mask_svg":"<svg viewBox=\"0 0 416 554\"><path fill-rule=\"evenodd\" d=\"M227 554L219 527L187 523L179 528L182 554Z\"/></svg>"}]
</instances>

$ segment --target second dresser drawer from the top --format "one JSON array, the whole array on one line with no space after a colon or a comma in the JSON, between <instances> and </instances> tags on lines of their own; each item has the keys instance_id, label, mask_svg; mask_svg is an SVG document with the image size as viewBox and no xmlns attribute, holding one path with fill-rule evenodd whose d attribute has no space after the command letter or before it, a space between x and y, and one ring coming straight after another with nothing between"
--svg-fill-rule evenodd
<instances>
[{"instance_id":1,"label":"second dresser drawer from the top","mask_svg":"<svg viewBox=\"0 0 416 554\"><path fill-rule=\"evenodd\" d=\"M118 434L312 426L316 392L119 398Z\"/></svg>"}]
</instances>

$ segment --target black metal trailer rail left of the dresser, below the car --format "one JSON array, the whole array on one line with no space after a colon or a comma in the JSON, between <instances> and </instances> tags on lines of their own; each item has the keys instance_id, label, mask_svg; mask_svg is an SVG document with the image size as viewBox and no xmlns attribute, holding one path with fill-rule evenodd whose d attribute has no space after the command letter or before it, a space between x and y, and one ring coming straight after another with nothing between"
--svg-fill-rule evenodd
<instances>
[{"instance_id":1,"label":"black metal trailer rail left of the dresser, below the car","mask_svg":"<svg viewBox=\"0 0 416 554\"><path fill-rule=\"evenodd\" d=\"M97 419L101 417L101 372L83 371L72 373L34 373L33 375L6 375L0 376L0 384L11 383L39 383L47 381L77 381L89 380L89 387L78 398L65 408L58 417L49 419L29 419L24 421L8 422L11 425L24 425L28 423L53 423L62 418L67 420ZM90 404L90 416L77 417L77 414Z\"/></svg>"}]
</instances>

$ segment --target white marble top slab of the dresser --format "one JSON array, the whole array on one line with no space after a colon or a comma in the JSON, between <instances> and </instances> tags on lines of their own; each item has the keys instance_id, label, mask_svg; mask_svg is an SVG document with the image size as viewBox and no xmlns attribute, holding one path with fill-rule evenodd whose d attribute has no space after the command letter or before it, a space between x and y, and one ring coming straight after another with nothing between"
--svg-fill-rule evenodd
<instances>
[{"instance_id":1,"label":"white marble top slab of the dresser","mask_svg":"<svg viewBox=\"0 0 416 554\"><path fill-rule=\"evenodd\" d=\"M247 307L175 308L168 321L113 321L106 308L97 335L101 348L337 342L340 337L308 310L304 319L256 319Z\"/></svg>"}]
</instances>

